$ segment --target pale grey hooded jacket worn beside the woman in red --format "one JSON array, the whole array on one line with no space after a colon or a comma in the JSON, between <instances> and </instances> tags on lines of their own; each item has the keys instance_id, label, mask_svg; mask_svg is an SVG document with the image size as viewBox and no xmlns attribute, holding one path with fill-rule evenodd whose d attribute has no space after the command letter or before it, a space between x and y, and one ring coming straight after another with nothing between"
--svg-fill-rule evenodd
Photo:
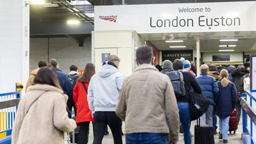
<instances>
[{"instance_id":1,"label":"pale grey hooded jacket worn beside the woman in red","mask_svg":"<svg viewBox=\"0 0 256 144\"><path fill-rule=\"evenodd\" d=\"M103 65L90 81L87 100L91 111L116 111L124 75L111 65Z\"/></svg>"}]
</instances>

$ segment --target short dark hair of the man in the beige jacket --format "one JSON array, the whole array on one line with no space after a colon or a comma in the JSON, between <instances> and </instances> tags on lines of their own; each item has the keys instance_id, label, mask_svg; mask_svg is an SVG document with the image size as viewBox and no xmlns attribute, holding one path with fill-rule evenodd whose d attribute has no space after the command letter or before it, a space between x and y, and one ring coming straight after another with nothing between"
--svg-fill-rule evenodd
<instances>
[{"instance_id":1,"label":"short dark hair of the man in the beige jacket","mask_svg":"<svg viewBox=\"0 0 256 144\"><path fill-rule=\"evenodd\" d=\"M143 63L150 63L153 58L153 50L149 46L141 46L136 51L136 60L141 65Z\"/></svg>"}]
</instances>

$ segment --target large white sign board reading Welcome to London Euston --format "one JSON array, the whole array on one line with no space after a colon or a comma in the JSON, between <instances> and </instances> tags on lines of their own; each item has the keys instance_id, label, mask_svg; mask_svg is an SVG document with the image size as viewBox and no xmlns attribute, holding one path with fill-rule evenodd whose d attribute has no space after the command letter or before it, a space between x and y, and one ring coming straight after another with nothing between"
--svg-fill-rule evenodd
<instances>
[{"instance_id":1,"label":"large white sign board reading Welcome to London Euston","mask_svg":"<svg viewBox=\"0 0 256 144\"><path fill-rule=\"evenodd\" d=\"M94 7L94 31L179 33L256 30L256 2Z\"/></svg>"}]
</instances>

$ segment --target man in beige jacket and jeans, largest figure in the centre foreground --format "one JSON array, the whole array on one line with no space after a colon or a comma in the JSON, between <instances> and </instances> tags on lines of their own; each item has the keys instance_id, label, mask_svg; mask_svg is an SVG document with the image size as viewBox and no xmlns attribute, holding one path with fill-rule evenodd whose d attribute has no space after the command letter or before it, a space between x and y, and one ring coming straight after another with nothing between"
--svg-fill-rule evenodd
<instances>
[{"instance_id":1,"label":"man in beige jacket and jeans, largest figure in the centre foreground","mask_svg":"<svg viewBox=\"0 0 256 144\"><path fill-rule=\"evenodd\" d=\"M173 87L169 77L153 66L154 60L151 47L139 47L139 67L124 80L116 114L125 121L126 143L168 144L179 139L179 109Z\"/></svg>"}]
</instances>

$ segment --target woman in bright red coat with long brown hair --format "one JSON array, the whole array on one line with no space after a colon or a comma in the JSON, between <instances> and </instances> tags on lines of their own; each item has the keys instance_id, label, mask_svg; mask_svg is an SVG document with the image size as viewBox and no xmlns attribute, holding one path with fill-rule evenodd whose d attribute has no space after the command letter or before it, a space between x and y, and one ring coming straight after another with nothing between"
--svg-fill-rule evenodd
<instances>
[{"instance_id":1,"label":"woman in bright red coat with long brown hair","mask_svg":"<svg viewBox=\"0 0 256 144\"><path fill-rule=\"evenodd\" d=\"M74 87L73 99L77 109L76 123L79 125L77 144L88 143L89 124L93 122L92 111L87 101L87 90L91 77L95 74L95 66L87 63L84 74L80 77Z\"/></svg>"}]
</instances>

